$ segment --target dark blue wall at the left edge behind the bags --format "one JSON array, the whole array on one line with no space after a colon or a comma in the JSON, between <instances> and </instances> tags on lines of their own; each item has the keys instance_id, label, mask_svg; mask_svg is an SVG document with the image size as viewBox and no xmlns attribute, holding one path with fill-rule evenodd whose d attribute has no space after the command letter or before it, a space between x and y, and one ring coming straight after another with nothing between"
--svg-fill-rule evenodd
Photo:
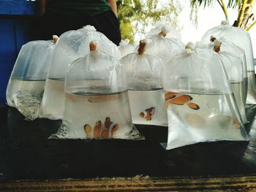
<instances>
[{"instance_id":1,"label":"dark blue wall at the left edge behind the bags","mask_svg":"<svg viewBox=\"0 0 256 192\"><path fill-rule=\"evenodd\" d=\"M37 39L38 1L0 0L0 104L6 104L6 88L12 68L26 42Z\"/></svg>"}]
</instances>

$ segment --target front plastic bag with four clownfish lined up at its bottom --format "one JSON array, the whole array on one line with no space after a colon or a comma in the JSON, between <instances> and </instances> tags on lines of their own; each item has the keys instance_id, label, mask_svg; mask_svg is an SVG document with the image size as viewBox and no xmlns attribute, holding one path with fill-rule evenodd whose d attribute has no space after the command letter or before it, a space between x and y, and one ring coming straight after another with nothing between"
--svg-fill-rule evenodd
<instances>
[{"instance_id":1,"label":"front plastic bag with four clownfish lined up at its bottom","mask_svg":"<svg viewBox=\"0 0 256 192\"><path fill-rule=\"evenodd\" d=\"M124 69L96 41L88 46L67 69L62 125L50 138L143 139L132 124Z\"/></svg>"}]
</instances>

